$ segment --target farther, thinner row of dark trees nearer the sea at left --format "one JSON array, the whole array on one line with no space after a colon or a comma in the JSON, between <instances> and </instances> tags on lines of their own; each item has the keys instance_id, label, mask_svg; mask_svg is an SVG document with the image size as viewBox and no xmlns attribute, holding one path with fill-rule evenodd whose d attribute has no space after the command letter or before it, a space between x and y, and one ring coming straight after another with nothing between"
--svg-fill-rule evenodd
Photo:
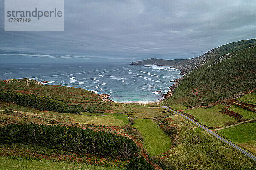
<instances>
[{"instance_id":1,"label":"farther, thinner row of dark trees nearer the sea at left","mask_svg":"<svg viewBox=\"0 0 256 170\"><path fill-rule=\"evenodd\" d=\"M56 111L62 113L80 114L81 109L77 107L70 108L64 101L53 99L48 96L37 96L34 94L22 94L12 91L0 91L0 100L3 102L12 102L17 105L36 108L38 110Z\"/></svg>"}]
</instances>

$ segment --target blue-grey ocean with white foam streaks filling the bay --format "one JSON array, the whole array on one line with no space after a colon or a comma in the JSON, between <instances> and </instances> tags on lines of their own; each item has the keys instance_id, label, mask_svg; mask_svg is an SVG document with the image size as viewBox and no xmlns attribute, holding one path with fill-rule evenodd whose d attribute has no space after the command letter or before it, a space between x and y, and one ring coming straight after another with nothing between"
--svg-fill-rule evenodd
<instances>
[{"instance_id":1,"label":"blue-grey ocean with white foam streaks filling the bay","mask_svg":"<svg viewBox=\"0 0 256 170\"><path fill-rule=\"evenodd\" d=\"M115 102L157 101L182 77L165 66L120 63L0 64L0 80L30 78L109 94ZM160 93L159 91L163 92Z\"/></svg>"}]
</instances>

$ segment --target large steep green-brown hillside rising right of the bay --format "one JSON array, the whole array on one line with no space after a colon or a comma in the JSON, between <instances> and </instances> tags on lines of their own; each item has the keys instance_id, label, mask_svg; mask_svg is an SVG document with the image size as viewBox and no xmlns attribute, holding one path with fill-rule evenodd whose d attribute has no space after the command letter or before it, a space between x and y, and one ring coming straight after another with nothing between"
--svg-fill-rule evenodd
<instances>
[{"instance_id":1,"label":"large steep green-brown hillside rising right of the bay","mask_svg":"<svg viewBox=\"0 0 256 170\"><path fill-rule=\"evenodd\" d=\"M227 49L223 48L204 65L186 74L180 81L180 85L175 88L174 95L166 99L166 102L171 103L173 99L183 99L180 100L183 105L193 107L255 88L256 46L244 48L246 46L248 44L234 47L227 45ZM239 48L244 49L234 51ZM233 57L212 65L218 57L229 51L234 51L230 53Z\"/></svg>"}]
</instances>

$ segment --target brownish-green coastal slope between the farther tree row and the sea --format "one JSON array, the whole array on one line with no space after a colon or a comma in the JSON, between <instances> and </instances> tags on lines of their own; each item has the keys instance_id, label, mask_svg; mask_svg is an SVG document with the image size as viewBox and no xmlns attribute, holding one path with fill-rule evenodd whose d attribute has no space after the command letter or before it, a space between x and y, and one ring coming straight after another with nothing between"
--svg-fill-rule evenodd
<instances>
[{"instance_id":1,"label":"brownish-green coastal slope between the farther tree row and the sea","mask_svg":"<svg viewBox=\"0 0 256 170\"><path fill-rule=\"evenodd\" d=\"M103 102L98 94L81 88L65 87L61 85L38 85L32 79L17 79L5 83L0 81L0 89L16 91L26 94L37 94L39 96L50 96L55 99L64 100L67 104L81 104L84 107L96 106L99 111L111 111L111 105Z\"/></svg>"}]
</instances>

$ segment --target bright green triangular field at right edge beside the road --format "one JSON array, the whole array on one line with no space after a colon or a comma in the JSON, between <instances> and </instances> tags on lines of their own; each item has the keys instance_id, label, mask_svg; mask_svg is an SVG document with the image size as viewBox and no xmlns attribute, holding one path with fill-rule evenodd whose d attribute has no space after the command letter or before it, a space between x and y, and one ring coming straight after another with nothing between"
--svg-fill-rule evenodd
<instances>
[{"instance_id":1,"label":"bright green triangular field at right edge beside the road","mask_svg":"<svg viewBox=\"0 0 256 170\"><path fill-rule=\"evenodd\" d=\"M218 130L221 136L256 154L256 122Z\"/></svg>"}]
</instances>

